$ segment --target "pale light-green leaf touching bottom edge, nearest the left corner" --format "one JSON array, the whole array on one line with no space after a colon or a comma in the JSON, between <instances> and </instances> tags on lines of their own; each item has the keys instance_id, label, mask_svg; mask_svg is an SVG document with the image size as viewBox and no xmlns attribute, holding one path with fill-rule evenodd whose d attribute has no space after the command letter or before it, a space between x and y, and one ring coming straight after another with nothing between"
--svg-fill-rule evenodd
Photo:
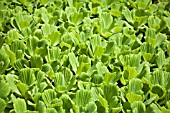
<instances>
[{"instance_id":1,"label":"pale light-green leaf touching bottom edge, nearest the left corner","mask_svg":"<svg viewBox=\"0 0 170 113\"><path fill-rule=\"evenodd\" d=\"M13 106L16 113L24 113L27 110L27 105L24 99L17 98L13 102Z\"/></svg>"}]
</instances>

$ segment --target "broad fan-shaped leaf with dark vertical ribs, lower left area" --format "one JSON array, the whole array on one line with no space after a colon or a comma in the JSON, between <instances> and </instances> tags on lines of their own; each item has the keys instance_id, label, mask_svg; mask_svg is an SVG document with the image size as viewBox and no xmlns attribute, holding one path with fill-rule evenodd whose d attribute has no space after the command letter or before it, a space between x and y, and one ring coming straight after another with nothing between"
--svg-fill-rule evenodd
<instances>
[{"instance_id":1,"label":"broad fan-shaped leaf with dark vertical ribs, lower left area","mask_svg":"<svg viewBox=\"0 0 170 113\"><path fill-rule=\"evenodd\" d=\"M30 86L35 81L35 75L32 69L24 68L19 72L19 79L22 83Z\"/></svg>"}]
</instances>

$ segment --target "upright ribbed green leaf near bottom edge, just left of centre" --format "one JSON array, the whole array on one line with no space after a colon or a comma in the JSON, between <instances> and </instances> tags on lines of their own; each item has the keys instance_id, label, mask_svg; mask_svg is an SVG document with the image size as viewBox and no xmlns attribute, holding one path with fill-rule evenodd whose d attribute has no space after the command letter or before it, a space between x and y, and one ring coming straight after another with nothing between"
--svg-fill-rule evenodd
<instances>
[{"instance_id":1,"label":"upright ribbed green leaf near bottom edge, just left of centre","mask_svg":"<svg viewBox=\"0 0 170 113\"><path fill-rule=\"evenodd\" d=\"M91 97L92 95L88 90L78 90L76 92L76 104L84 107L90 102Z\"/></svg>"}]
</instances>

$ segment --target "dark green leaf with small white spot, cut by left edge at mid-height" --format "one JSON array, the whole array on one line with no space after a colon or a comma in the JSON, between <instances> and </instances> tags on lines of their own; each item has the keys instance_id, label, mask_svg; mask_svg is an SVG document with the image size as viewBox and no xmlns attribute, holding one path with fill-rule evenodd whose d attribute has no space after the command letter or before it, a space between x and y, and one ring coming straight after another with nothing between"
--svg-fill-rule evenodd
<instances>
[{"instance_id":1,"label":"dark green leaf with small white spot, cut by left edge at mid-height","mask_svg":"<svg viewBox=\"0 0 170 113\"><path fill-rule=\"evenodd\" d=\"M10 61L6 54L0 53L0 74L3 74L5 70L7 69Z\"/></svg>"}]
</instances>

